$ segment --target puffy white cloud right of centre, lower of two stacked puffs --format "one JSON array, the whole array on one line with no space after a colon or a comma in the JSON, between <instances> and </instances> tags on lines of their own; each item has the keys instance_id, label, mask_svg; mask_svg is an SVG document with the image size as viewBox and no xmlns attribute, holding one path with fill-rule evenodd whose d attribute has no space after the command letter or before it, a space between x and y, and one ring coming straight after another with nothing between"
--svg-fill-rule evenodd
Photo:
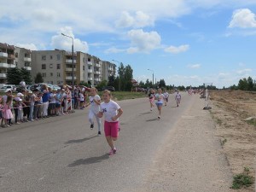
<instances>
[{"instance_id":1,"label":"puffy white cloud right of centre, lower of two stacked puffs","mask_svg":"<svg viewBox=\"0 0 256 192\"><path fill-rule=\"evenodd\" d=\"M128 32L128 36L131 39L131 47L127 49L128 53L148 53L159 48L161 42L157 32L143 32L142 29L131 30Z\"/></svg>"}]
</instances>

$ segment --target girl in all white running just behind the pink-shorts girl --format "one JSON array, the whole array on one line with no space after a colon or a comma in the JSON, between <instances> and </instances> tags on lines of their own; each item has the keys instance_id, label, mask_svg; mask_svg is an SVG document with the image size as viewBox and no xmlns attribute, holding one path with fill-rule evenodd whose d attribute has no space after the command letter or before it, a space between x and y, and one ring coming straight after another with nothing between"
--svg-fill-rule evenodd
<instances>
[{"instance_id":1,"label":"girl in all white running just behind the pink-shorts girl","mask_svg":"<svg viewBox=\"0 0 256 192\"><path fill-rule=\"evenodd\" d=\"M92 130L94 127L93 118L96 117L96 121L98 124L98 135L102 135L102 122L101 119L97 116L97 113L100 111L100 105L101 105L101 97L98 96L96 88L90 89L90 96L89 96L89 103L86 105L88 107L90 105L90 111L89 111L89 121L90 121L90 129Z\"/></svg>"}]
</instances>

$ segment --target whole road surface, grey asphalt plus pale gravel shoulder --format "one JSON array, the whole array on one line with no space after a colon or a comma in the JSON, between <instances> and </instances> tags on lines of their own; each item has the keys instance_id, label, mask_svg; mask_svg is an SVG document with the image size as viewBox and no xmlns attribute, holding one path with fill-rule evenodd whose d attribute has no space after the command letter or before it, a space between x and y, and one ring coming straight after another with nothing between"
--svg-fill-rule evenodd
<instances>
[{"instance_id":1,"label":"whole road surface, grey asphalt plus pale gravel shoulder","mask_svg":"<svg viewBox=\"0 0 256 192\"><path fill-rule=\"evenodd\" d=\"M230 171L199 96L173 95L160 120L146 98L124 109L108 156L104 137L90 131L88 110L0 129L2 192L227 192Z\"/></svg>"}]
</instances>

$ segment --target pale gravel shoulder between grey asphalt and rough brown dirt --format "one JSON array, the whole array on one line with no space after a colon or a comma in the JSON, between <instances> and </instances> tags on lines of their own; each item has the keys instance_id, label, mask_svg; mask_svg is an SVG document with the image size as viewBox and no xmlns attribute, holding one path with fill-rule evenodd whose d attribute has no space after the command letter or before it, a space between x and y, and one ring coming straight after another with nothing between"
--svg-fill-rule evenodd
<instances>
[{"instance_id":1,"label":"pale gravel shoulder between grey asphalt and rough brown dirt","mask_svg":"<svg viewBox=\"0 0 256 192\"><path fill-rule=\"evenodd\" d=\"M173 125L139 191L229 192L229 160L224 155L216 123L199 95Z\"/></svg>"}]
</instances>

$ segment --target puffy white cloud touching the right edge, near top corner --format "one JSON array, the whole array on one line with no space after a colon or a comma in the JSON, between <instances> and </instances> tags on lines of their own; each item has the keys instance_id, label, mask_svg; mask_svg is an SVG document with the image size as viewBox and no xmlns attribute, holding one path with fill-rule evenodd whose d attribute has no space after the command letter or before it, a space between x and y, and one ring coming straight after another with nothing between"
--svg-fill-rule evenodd
<instances>
[{"instance_id":1,"label":"puffy white cloud touching the right edge, near top corner","mask_svg":"<svg viewBox=\"0 0 256 192\"><path fill-rule=\"evenodd\" d=\"M255 14L250 9L236 9L233 12L229 27L256 27Z\"/></svg>"}]
</instances>

